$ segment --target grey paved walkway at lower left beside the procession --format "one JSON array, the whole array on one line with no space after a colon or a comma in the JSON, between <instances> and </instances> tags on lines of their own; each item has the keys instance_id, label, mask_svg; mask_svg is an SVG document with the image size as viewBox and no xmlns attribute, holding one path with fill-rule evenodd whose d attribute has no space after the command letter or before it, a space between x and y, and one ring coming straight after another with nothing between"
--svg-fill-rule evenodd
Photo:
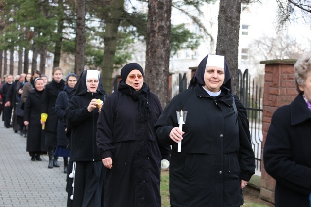
<instances>
[{"instance_id":1,"label":"grey paved walkway at lower left beside the procession","mask_svg":"<svg viewBox=\"0 0 311 207\"><path fill-rule=\"evenodd\" d=\"M26 138L0 120L0 207L66 207L66 174L48 169L48 156L31 161Z\"/></svg>"}]
</instances>

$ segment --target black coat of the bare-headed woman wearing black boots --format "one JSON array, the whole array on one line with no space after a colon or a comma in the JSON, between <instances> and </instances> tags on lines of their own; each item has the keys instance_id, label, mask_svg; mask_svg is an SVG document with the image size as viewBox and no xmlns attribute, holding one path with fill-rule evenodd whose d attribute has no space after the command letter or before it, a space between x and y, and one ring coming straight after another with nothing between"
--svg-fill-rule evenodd
<instances>
[{"instance_id":1,"label":"black coat of the bare-headed woman wearing black boots","mask_svg":"<svg viewBox=\"0 0 311 207\"><path fill-rule=\"evenodd\" d=\"M57 87L61 85L61 87ZM47 113L48 118L45 123L45 131L56 133L57 131L57 114L55 111L55 103L59 92L64 89L64 80L61 80L60 83L56 83L52 80L51 83L47 84L44 89L43 102L41 113Z\"/></svg>"}]
</instances>

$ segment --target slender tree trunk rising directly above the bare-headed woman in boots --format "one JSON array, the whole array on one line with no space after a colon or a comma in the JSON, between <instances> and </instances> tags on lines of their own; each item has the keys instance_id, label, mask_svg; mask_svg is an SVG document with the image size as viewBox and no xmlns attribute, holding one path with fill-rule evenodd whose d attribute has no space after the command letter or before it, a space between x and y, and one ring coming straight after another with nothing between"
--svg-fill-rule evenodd
<instances>
[{"instance_id":1,"label":"slender tree trunk rising directly above the bare-headed woman in boots","mask_svg":"<svg viewBox=\"0 0 311 207\"><path fill-rule=\"evenodd\" d=\"M60 57L61 57L61 49L62 49L62 41L63 41L63 28L64 28L64 17L63 17L64 5L63 4L64 4L63 0L58 1L58 9L61 11L61 14L58 15L58 17L59 17L58 25L57 25L58 40L55 42L53 68L59 67Z\"/></svg>"}]
</instances>

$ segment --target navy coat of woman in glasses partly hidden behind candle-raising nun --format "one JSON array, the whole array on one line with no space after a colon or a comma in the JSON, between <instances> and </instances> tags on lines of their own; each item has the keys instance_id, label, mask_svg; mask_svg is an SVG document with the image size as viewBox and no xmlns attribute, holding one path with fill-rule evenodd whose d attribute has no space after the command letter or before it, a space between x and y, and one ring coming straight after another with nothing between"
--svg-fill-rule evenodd
<instances>
[{"instance_id":1,"label":"navy coat of woman in glasses partly hidden behind candle-raising nun","mask_svg":"<svg viewBox=\"0 0 311 207\"><path fill-rule=\"evenodd\" d=\"M55 111L58 116L58 122L57 122L57 146L64 146L66 147L68 144L68 139L66 137L66 118L65 118L65 110L68 105L68 101L70 99L70 92L67 87L64 88L64 91L60 92L58 94L58 97L56 99L55 103Z\"/></svg>"}]
</instances>

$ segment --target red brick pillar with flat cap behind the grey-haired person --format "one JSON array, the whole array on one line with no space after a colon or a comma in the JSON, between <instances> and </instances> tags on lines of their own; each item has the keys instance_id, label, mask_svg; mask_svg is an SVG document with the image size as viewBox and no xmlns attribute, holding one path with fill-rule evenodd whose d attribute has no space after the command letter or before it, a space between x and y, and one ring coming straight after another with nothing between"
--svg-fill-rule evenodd
<instances>
[{"instance_id":1,"label":"red brick pillar with flat cap behind the grey-haired person","mask_svg":"<svg viewBox=\"0 0 311 207\"><path fill-rule=\"evenodd\" d=\"M290 104L298 95L294 84L294 64L296 61L294 59L278 59L260 62L260 64L265 64L262 152L272 114L278 107ZM260 197L274 203L275 184L275 180L265 171L263 163L261 168Z\"/></svg>"}]
</instances>

